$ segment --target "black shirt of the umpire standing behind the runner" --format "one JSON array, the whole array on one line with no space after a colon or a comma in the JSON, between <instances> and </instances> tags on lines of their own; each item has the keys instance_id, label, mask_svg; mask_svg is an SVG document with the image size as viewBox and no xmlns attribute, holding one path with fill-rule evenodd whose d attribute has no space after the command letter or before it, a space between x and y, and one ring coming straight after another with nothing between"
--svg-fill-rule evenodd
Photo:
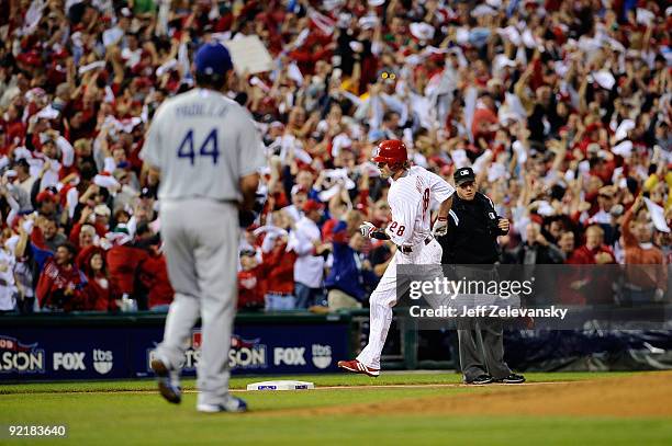
<instances>
[{"instance_id":1,"label":"black shirt of the umpire standing behind the runner","mask_svg":"<svg viewBox=\"0 0 672 446\"><path fill-rule=\"evenodd\" d=\"M448 232L437 238L444 255L441 263L493 264L500 260L497 236L506 235L497 227L500 216L490 198L477 192L472 201L453 195L448 215Z\"/></svg>"}]
</instances>

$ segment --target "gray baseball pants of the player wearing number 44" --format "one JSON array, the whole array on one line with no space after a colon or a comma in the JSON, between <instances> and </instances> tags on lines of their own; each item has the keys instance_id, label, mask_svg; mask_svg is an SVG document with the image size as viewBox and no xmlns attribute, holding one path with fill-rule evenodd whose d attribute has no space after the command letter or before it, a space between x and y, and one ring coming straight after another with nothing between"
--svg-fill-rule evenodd
<instances>
[{"instance_id":1,"label":"gray baseball pants of the player wearing number 44","mask_svg":"<svg viewBox=\"0 0 672 446\"><path fill-rule=\"evenodd\" d=\"M238 211L231 203L205 198L161 201L160 218L176 294L157 354L179 370L200 316L198 403L223 403L228 394L228 350L238 294Z\"/></svg>"}]
</instances>

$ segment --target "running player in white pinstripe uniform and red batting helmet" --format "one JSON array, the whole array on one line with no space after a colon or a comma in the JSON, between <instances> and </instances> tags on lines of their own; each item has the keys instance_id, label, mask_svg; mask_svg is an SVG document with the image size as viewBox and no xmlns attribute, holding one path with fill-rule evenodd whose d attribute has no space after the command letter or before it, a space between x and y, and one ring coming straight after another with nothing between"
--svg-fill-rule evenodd
<instances>
[{"instance_id":1,"label":"running player in white pinstripe uniform and red batting helmet","mask_svg":"<svg viewBox=\"0 0 672 446\"><path fill-rule=\"evenodd\" d=\"M372 160L378 164L381 176L392 180L388 193L392 221L384 231L368 221L361 225L360 230L365 237L392 240L397 250L369 298L369 344L357 359L340 361L338 367L377 377L380 375L380 355L392 322L392 307L396 304L396 265L441 263L441 247L434 239L433 231L437 236L446 233L455 188L424 168L410 167L406 147L399 140L380 142ZM440 204L434 229L430 226L433 203Z\"/></svg>"}]
</instances>

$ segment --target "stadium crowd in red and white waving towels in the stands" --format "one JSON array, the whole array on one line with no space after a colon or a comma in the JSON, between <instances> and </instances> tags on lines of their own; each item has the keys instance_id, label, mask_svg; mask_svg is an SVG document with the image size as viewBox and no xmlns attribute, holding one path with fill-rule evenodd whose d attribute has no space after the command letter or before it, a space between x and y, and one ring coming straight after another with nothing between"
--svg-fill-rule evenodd
<instances>
[{"instance_id":1,"label":"stadium crowd in red and white waving towels in the stands","mask_svg":"<svg viewBox=\"0 0 672 446\"><path fill-rule=\"evenodd\" d=\"M502 262L669 264L672 9L632 0L35 0L0 3L0 311L171 300L159 179L138 158L204 41L256 35L239 72L267 147L239 307L366 305L396 249L369 161L402 139L477 172L512 231ZM634 289L669 296L667 277ZM124 307L125 308L125 307Z\"/></svg>"}]
</instances>

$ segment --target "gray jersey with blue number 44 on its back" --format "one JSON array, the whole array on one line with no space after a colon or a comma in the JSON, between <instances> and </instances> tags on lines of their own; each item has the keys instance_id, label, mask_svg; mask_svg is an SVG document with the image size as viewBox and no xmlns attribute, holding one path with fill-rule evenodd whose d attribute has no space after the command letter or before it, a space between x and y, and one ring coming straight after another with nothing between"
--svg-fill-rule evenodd
<instances>
[{"instance_id":1,"label":"gray jersey with blue number 44 on its back","mask_svg":"<svg viewBox=\"0 0 672 446\"><path fill-rule=\"evenodd\" d=\"M249 113L205 89L178 94L159 106L141 158L161 171L160 199L240 201L240 178L265 164Z\"/></svg>"}]
</instances>

